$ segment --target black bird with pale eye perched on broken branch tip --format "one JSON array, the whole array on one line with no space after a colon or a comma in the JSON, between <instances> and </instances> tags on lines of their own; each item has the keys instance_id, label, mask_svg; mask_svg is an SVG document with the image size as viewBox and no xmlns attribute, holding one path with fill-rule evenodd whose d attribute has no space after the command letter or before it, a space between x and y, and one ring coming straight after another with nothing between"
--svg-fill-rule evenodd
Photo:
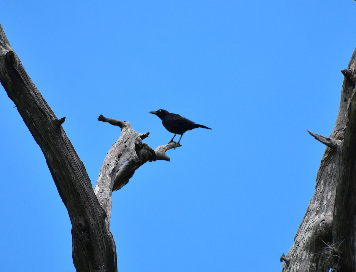
<instances>
[{"instance_id":1,"label":"black bird with pale eye perched on broken branch tip","mask_svg":"<svg viewBox=\"0 0 356 272\"><path fill-rule=\"evenodd\" d=\"M210 129L210 127L195 124L195 122L190 121L189 119L184 118L179 114L169 113L166 110L150 111L149 113L156 114L159 118L161 118L162 124L166 128L166 130L174 133L174 136L169 143L173 142L174 137L179 134L180 138L177 143L179 144L180 139L182 138L184 132L187 130L196 129L197 127L203 127L203 129Z\"/></svg>"}]
</instances>

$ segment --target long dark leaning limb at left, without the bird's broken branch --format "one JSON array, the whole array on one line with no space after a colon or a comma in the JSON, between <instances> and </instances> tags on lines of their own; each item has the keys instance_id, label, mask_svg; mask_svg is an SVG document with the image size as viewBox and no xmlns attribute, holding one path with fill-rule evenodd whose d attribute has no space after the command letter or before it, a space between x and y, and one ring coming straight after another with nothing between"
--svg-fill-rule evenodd
<instances>
[{"instance_id":1,"label":"long dark leaning limb at left, without the bird's broken branch","mask_svg":"<svg viewBox=\"0 0 356 272\"><path fill-rule=\"evenodd\" d=\"M117 271L115 242L83 162L61 124L23 68L0 25L0 80L40 146L72 223L78 272ZM101 270L100 270L101 271Z\"/></svg>"}]
</instances>

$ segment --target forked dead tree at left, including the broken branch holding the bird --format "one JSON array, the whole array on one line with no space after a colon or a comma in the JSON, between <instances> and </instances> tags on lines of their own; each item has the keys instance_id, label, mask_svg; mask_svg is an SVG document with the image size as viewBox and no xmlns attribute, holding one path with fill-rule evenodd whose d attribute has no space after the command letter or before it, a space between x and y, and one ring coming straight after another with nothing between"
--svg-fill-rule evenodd
<instances>
[{"instance_id":1,"label":"forked dead tree at left, including the broken branch holding the bird","mask_svg":"<svg viewBox=\"0 0 356 272\"><path fill-rule=\"evenodd\" d=\"M121 128L101 167L95 193L83 162L58 119L12 49L0 25L0 81L40 146L72 223L73 263L78 272L117 271L115 241L110 232L111 192L118 190L147 161L164 159L175 143L152 150L129 122L99 116ZM124 143L124 144L121 144Z\"/></svg>"}]
</instances>

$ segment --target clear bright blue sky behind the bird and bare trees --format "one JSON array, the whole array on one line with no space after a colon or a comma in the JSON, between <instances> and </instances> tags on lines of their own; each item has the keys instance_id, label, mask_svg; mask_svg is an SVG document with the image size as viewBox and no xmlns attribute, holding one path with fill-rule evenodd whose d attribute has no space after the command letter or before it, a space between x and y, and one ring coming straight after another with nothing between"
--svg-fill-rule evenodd
<instances>
[{"instance_id":1,"label":"clear bright blue sky behind the bird and bare trees","mask_svg":"<svg viewBox=\"0 0 356 272\"><path fill-rule=\"evenodd\" d=\"M5 1L5 33L95 184L120 130L184 134L113 193L120 271L279 271L315 188L356 2ZM351 20L351 21L350 21ZM72 272L71 225L43 154L0 91L3 271Z\"/></svg>"}]
</instances>

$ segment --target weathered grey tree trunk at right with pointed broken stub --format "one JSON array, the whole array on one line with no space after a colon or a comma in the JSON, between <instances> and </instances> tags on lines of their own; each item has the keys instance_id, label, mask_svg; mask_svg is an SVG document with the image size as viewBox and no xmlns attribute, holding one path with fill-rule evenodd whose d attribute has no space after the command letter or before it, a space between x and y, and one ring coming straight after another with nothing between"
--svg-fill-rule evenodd
<instances>
[{"instance_id":1,"label":"weathered grey tree trunk at right with pointed broken stub","mask_svg":"<svg viewBox=\"0 0 356 272\"><path fill-rule=\"evenodd\" d=\"M294 243L282 255L283 272L356 272L356 49L341 88L339 112L330 137L309 132L325 149L315 193Z\"/></svg>"}]
</instances>

